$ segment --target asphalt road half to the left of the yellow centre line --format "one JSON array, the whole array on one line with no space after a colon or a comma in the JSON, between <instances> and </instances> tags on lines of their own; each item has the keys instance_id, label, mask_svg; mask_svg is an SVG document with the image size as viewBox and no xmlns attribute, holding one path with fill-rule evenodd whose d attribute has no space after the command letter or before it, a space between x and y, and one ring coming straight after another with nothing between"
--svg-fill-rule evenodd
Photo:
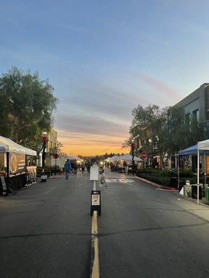
<instances>
[{"instance_id":1,"label":"asphalt road half to the left of the yellow centre line","mask_svg":"<svg viewBox=\"0 0 209 278\"><path fill-rule=\"evenodd\" d=\"M91 190L70 177L0 198L0 277L89 277Z\"/></svg>"}]
</instances>

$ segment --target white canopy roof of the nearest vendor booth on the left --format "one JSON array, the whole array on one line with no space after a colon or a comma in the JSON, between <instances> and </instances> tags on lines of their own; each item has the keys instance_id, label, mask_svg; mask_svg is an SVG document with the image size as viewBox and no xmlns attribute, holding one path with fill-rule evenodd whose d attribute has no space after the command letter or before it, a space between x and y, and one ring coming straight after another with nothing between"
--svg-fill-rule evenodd
<instances>
[{"instance_id":1,"label":"white canopy roof of the nearest vendor booth on the left","mask_svg":"<svg viewBox=\"0 0 209 278\"><path fill-rule=\"evenodd\" d=\"M6 152L15 152L17 154L26 154L28 156L37 156L36 151L23 147L9 138L0 136L0 146L5 148Z\"/></svg>"}]
</instances>

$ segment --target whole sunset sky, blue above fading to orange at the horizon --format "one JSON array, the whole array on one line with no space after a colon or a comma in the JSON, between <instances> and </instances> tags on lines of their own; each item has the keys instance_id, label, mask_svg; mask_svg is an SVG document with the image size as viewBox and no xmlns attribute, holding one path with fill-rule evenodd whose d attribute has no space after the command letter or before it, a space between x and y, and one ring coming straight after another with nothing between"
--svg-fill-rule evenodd
<instances>
[{"instance_id":1,"label":"whole sunset sky, blue above fading to orange at the horizon","mask_svg":"<svg viewBox=\"0 0 209 278\"><path fill-rule=\"evenodd\" d=\"M121 152L138 104L169 106L209 81L204 0L1 1L0 72L49 79L68 154Z\"/></svg>"}]
</instances>

